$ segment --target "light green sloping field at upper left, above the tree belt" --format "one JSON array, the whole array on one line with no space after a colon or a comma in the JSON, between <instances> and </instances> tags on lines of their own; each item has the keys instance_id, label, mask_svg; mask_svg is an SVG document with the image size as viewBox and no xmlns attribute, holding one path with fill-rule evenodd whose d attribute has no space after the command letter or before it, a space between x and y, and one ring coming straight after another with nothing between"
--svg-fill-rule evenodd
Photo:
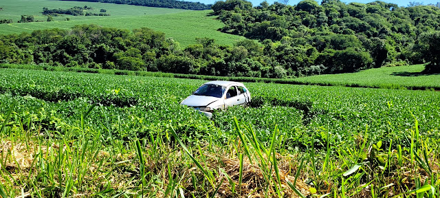
<instances>
[{"instance_id":1,"label":"light green sloping field at upper left, above the tree belt","mask_svg":"<svg viewBox=\"0 0 440 198\"><path fill-rule=\"evenodd\" d=\"M55 21L47 22L47 17L41 14L43 7L72 8L74 6L87 5L95 10L85 12L99 13L100 9L107 10L109 17L85 17L71 16L54 17ZM206 17L210 10L188 11L168 8L149 8L136 5L118 5L112 3L91 3L78 1L54 1L54 0L3 0L0 3L3 11L0 11L0 19L12 19L19 21L21 15L34 15L34 18L44 22L1 24L0 34L12 34L20 32L32 32L47 28L69 29L79 24L98 24L104 27L122 29L152 28L165 32L166 36L186 46L195 43L197 37L210 37L222 45L230 45L243 39L241 36L225 34L217 31L223 26L221 21L214 17ZM65 21L66 18L70 21Z\"/></svg>"}]
</instances>

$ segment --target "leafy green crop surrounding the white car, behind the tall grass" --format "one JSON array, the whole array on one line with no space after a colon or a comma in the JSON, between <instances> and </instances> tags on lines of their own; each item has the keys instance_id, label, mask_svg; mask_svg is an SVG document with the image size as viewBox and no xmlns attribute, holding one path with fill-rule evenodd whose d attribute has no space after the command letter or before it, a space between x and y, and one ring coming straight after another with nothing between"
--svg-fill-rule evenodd
<instances>
[{"instance_id":1,"label":"leafy green crop surrounding the white car, behind the tall grass","mask_svg":"<svg viewBox=\"0 0 440 198\"><path fill-rule=\"evenodd\" d=\"M142 137L173 124L188 140L206 137L225 142L234 137L230 135L234 116L252 123L263 142L268 142L277 124L290 148L312 142L323 145L327 140L322 134L327 131L328 141L335 145L353 144L365 136L409 144L408 129L415 119L422 133L437 135L440 126L438 91L246 83L252 107L219 111L209 120L179 105L204 80L25 69L0 69L0 76L0 116L18 101L21 119L45 115L39 122L47 129L62 130L63 124L78 126L80 114L97 103L86 121L100 123L95 127L108 131L106 136L120 138Z\"/></svg>"}]
</instances>

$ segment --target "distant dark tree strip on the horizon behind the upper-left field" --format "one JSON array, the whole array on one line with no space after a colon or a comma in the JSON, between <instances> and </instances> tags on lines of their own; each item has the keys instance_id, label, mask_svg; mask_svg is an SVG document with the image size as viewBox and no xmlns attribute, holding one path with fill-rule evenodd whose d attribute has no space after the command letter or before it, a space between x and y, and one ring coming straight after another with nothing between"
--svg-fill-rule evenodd
<instances>
[{"instance_id":1,"label":"distant dark tree strip on the horizon behind the upper-left field","mask_svg":"<svg viewBox=\"0 0 440 198\"><path fill-rule=\"evenodd\" d=\"M61 1L72 1L72 0L61 0ZM199 2L177 1L177 0L74 0L74 1L143 5L148 7L176 8L176 9L184 9L184 10L209 10L211 8L210 4L207 5Z\"/></svg>"}]
</instances>

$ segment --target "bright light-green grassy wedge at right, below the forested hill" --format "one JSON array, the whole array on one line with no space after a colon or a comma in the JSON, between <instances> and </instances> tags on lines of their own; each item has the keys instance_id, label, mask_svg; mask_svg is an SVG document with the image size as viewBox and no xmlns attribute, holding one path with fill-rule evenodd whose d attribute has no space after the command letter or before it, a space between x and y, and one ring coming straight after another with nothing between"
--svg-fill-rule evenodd
<instances>
[{"instance_id":1,"label":"bright light-green grassy wedge at right, below the forested hill","mask_svg":"<svg viewBox=\"0 0 440 198\"><path fill-rule=\"evenodd\" d=\"M296 81L319 85L344 85L355 87L382 88L423 88L439 87L440 75L420 75L423 65L406 65L398 67L381 67L367 69L357 73L327 74L296 78Z\"/></svg>"}]
</instances>

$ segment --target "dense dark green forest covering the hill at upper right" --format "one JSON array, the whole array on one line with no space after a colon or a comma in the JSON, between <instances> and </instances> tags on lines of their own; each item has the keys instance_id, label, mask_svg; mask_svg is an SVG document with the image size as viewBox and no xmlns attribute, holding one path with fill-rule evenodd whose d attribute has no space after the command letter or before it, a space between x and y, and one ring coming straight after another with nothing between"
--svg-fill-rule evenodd
<instances>
[{"instance_id":1,"label":"dense dark green forest covering the hill at upper right","mask_svg":"<svg viewBox=\"0 0 440 198\"><path fill-rule=\"evenodd\" d=\"M292 57L278 58L290 75L320 64L327 67L324 73L340 73L429 62L417 49L419 36L440 30L435 5L304 0L296 5L263 1L254 7L249 1L227 0L217 1L212 10L225 24L222 32L283 48L274 55ZM347 63L341 56L352 58Z\"/></svg>"}]
</instances>

